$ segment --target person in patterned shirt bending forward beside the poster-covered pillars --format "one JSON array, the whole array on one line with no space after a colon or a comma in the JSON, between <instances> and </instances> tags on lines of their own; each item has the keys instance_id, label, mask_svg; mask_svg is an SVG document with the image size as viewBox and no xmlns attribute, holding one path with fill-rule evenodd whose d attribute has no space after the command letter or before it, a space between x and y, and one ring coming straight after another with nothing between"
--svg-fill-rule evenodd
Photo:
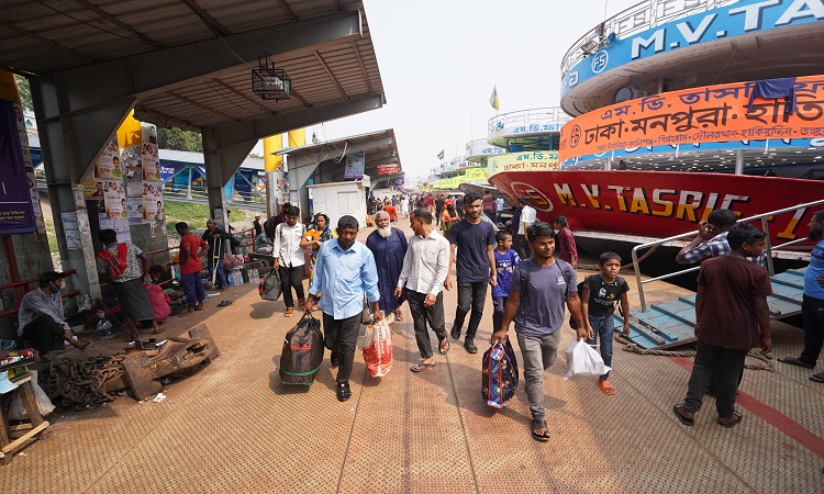
<instances>
[{"instance_id":1,"label":"person in patterned shirt bending forward beside the poster-covered pillars","mask_svg":"<svg viewBox=\"0 0 824 494\"><path fill-rule=\"evenodd\" d=\"M136 321L149 321L154 333L160 333L163 329L157 325L155 311L152 308L148 292L144 285L144 283L152 283L148 274L148 258L131 242L119 244L118 233L111 228L101 229L98 239L103 244L103 251L97 257L98 272L108 278L114 288L114 293L123 306L122 314L126 319L130 338L140 338ZM108 268L107 257L121 257L121 260L125 262L125 267L118 276L113 276Z\"/></svg>"}]
</instances>

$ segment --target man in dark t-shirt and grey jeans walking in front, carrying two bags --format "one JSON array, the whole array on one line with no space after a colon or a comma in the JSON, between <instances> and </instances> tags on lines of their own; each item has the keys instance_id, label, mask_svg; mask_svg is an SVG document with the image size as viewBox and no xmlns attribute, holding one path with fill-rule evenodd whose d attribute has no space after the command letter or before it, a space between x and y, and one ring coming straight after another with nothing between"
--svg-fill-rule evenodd
<instances>
[{"instance_id":1,"label":"man in dark t-shirt and grey jeans walking in front, carrying two bags","mask_svg":"<svg viewBox=\"0 0 824 494\"><path fill-rule=\"evenodd\" d=\"M530 226L528 237L533 257L515 268L510 284L510 296L504 306L503 323L492 334L492 344L506 338L510 323L515 322L517 343L524 360L526 396L532 414L532 437L548 441L544 412L544 372L553 364L560 345L564 324L564 300L578 323L578 338L588 339L578 297L578 279L569 263L553 257L555 235L543 222Z\"/></svg>"}]
</instances>

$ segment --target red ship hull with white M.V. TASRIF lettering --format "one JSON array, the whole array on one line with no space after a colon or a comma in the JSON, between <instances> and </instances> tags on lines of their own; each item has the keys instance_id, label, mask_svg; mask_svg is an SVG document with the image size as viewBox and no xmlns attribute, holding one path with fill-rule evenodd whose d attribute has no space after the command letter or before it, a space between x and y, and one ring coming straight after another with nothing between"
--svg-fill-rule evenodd
<instances>
[{"instance_id":1,"label":"red ship hull with white M.V. TASRIF lettering","mask_svg":"<svg viewBox=\"0 0 824 494\"><path fill-rule=\"evenodd\" d=\"M531 199L538 218L558 215L574 229L667 237L695 229L719 209L742 217L813 202L817 180L678 171L509 171L489 181L510 199ZM773 245L802 238L816 209L775 216Z\"/></svg>"}]
</instances>

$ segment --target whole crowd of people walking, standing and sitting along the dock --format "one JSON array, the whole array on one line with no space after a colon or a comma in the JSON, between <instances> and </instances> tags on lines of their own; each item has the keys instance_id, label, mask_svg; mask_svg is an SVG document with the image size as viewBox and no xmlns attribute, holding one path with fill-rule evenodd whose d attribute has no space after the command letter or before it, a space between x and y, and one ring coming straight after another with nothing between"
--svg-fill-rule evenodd
<instances>
[{"instance_id":1,"label":"whole crowd of people walking, standing and sitting along the dock","mask_svg":"<svg viewBox=\"0 0 824 494\"><path fill-rule=\"evenodd\" d=\"M514 323L535 440L546 441L549 437L543 378L557 356L566 311L577 337L598 347L604 364L613 368L613 315L616 308L623 314L631 308L630 285L619 276L621 257L603 252L598 272L579 283L578 252L566 217L557 216L552 224L537 221L530 201L521 199L512 221L503 225L502 202L489 199L470 192L459 198L397 195L370 201L376 229L365 244L356 240L360 224L353 216L342 216L335 228L322 213L308 225L302 224L300 210L291 204L264 224L256 216L255 248L268 249L272 258L283 290L283 316L294 313L296 299L302 311L323 312L325 345L332 351L332 367L338 369L339 401L352 394L349 378L365 305L371 306L376 321L388 314L393 314L394 321L403 321L400 307L409 303L420 352L411 371L425 372L436 366L430 329L441 355L449 352L450 339L461 338L467 352L478 352L476 338L490 288L490 343L505 340ZM409 238L396 226L399 218L405 217L412 229ZM817 244L804 276L804 348L799 357L780 361L813 369L824 346L824 211L815 213L808 226L809 238ZM98 256L98 270L111 282L132 338L138 336L140 322L152 325L154 332L162 330L157 321L164 311L155 306L146 287L158 284L169 265L180 268L185 314L203 310L203 256L219 285L225 283L220 246L230 242L231 234L211 220L202 236L192 234L183 222L176 229L181 236L179 255L167 266L156 267L149 267L148 259L133 244L118 243L114 231L100 232L103 248ZM681 263L701 262L695 302L698 352L686 397L672 407L684 425L694 424L705 393L716 397L720 425L732 427L742 419L735 400L744 358L754 347L766 353L772 346L767 306L772 291L764 252L764 232L737 223L732 211L719 210L699 224L699 235L676 257ZM308 293L303 288L305 277ZM41 352L67 344L77 348L89 345L74 338L65 322L59 299L62 281L58 273L44 273L40 289L27 293L20 307L19 334ZM447 332L444 291L453 289L457 304ZM630 334L628 321L623 318L624 336ZM615 386L609 379L608 370L597 384L601 392L613 395ZM824 382L824 373L810 379Z\"/></svg>"}]
</instances>

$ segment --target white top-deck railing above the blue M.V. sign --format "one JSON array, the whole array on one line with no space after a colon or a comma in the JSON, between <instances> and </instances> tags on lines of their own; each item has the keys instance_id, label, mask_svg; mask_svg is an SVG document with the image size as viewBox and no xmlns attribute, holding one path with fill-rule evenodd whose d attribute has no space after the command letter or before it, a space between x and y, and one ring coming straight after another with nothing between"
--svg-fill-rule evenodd
<instances>
[{"instance_id":1,"label":"white top-deck railing above the blue M.V. sign","mask_svg":"<svg viewBox=\"0 0 824 494\"><path fill-rule=\"evenodd\" d=\"M595 25L587 32L577 42L572 44L560 63L561 77L566 76L569 69L581 61L587 55L604 46L610 41L610 34L614 34L619 40L625 38L632 34L642 33L652 27L688 18L690 15L706 12L720 7L736 3L738 0L647 0L636 3L633 7L613 15L604 22ZM679 9L678 4L682 8ZM584 45L593 46L584 50Z\"/></svg>"}]
</instances>

